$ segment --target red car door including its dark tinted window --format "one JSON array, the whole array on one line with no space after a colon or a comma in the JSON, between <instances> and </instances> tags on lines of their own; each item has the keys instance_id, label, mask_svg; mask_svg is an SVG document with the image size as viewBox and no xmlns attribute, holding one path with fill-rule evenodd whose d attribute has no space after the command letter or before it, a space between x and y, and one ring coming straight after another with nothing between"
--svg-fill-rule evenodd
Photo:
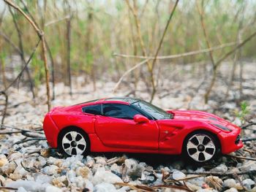
<instances>
[{"instance_id":1,"label":"red car door including its dark tinted window","mask_svg":"<svg viewBox=\"0 0 256 192\"><path fill-rule=\"evenodd\" d=\"M158 150L159 131L155 120L135 123L138 110L127 104L102 104L102 116L97 116L95 131L105 146Z\"/></svg>"}]
</instances>

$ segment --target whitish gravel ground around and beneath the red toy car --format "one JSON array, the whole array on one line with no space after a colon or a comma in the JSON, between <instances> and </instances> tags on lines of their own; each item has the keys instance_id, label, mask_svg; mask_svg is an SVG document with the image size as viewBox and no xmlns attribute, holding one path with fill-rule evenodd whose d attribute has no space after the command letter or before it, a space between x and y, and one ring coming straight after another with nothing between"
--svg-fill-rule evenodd
<instances>
[{"instance_id":1,"label":"whitish gravel ground around and beneath the red toy car","mask_svg":"<svg viewBox=\"0 0 256 192\"><path fill-rule=\"evenodd\" d=\"M189 108L214 112L241 126L241 119L236 117L239 112L236 102L238 80L235 80L233 85L236 91L230 91L225 99L227 80L222 76L230 70L229 66L222 67L222 73L219 74L214 93L207 105L203 104L203 93L207 85L204 80L207 82L208 78L186 73L191 68L192 66L187 66L182 73L172 72L169 80L160 80L159 93L153 103L166 109ZM162 70L165 71L164 69L163 67ZM244 98L249 103L249 115L246 119L252 122L256 122L255 74L255 64L245 63ZM199 89L198 82L202 82ZM129 84L121 85L115 94L112 93L114 85L114 82L97 82L97 91L93 91L91 84L86 84L83 77L78 77L74 80L74 93L71 97L68 94L69 89L58 83L53 106L76 104L108 96L132 96ZM148 99L149 95L143 82L139 82L138 87L136 96ZM246 142L243 149L230 154L252 158L251 160L221 156L217 161L202 166L186 164L178 155L93 153L86 157L77 155L65 158L58 150L50 149L42 139L45 137L42 120L47 112L45 86L39 88L38 97L34 100L31 100L31 93L26 88L10 88L8 94L10 98L7 117L1 132L19 133L0 134L0 191L7 191L8 188L50 192L256 191L254 141ZM256 137L252 129L256 130L256 126L243 130L241 137ZM239 174L241 172L246 174Z\"/></svg>"}]
</instances>

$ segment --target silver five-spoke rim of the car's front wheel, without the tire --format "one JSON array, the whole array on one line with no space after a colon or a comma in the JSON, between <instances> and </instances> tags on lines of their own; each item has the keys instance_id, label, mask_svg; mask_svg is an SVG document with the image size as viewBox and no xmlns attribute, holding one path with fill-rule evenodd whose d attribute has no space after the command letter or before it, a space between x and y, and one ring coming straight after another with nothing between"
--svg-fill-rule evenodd
<instances>
[{"instance_id":1,"label":"silver five-spoke rim of the car's front wheel, without the tire","mask_svg":"<svg viewBox=\"0 0 256 192\"><path fill-rule=\"evenodd\" d=\"M197 162L208 161L213 158L216 146L207 134L194 134L187 142L188 155Z\"/></svg>"}]
</instances>

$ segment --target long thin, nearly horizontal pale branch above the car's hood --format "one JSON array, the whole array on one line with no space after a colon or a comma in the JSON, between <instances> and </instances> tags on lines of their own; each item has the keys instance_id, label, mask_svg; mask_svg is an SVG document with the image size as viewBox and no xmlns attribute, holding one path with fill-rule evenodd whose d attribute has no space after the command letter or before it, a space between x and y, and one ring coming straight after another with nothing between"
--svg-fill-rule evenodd
<instances>
[{"instance_id":1,"label":"long thin, nearly horizontal pale branch above the car's hood","mask_svg":"<svg viewBox=\"0 0 256 192\"><path fill-rule=\"evenodd\" d=\"M229 42L229 43L225 43L225 44L222 44L222 45L218 45L216 47L211 47L209 49L193 50L193 51L190 51L190 52L187 52L187 53L180 53L180 54L177 54L177 55L157 56L157 59L182 58L182 57L187 57L187 56L190 56L190 55L197 55L197 54L200 54L200 53L208 53L209 51L220 50L222 48L230 47L230 46L233 46L233 45L236 45L236 42ZM124 55L124 54L118 54L118 53L113 53L113 56L122 57L122 58L154 59L153 56L146 57L146 56L137 56L137 55Z\"/></svg>"}]
</instances>

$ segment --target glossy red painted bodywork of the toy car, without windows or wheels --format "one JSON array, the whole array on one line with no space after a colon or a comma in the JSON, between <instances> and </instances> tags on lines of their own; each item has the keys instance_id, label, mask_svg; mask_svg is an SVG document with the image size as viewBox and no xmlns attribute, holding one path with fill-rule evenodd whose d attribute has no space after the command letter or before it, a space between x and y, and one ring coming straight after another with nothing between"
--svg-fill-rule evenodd
<instances>
[{"instance_id":1,"label":"glossy red painted bodywork of the toy car, without windows or wheels","mask_svg":"<svg viewBox=\"0 0 256 192\"><path fill-rule=\"evenodd\" d=\"M91 115L82 112L82 107L91 104L127 104L125 101L98 101L70 107L55 107L45 115L43 128L50 147L58 147L57 139L62 128L76 126L89 135L91 152L165 153L181 154L184 139L197 130L215 134L222 153L230 153L243 147L236 137L241 128L207 112L170 110L173 119L148 120L135 115L133 120ZM230 128L224 131L214 126Z\"/></svg>"}]
</instances>

